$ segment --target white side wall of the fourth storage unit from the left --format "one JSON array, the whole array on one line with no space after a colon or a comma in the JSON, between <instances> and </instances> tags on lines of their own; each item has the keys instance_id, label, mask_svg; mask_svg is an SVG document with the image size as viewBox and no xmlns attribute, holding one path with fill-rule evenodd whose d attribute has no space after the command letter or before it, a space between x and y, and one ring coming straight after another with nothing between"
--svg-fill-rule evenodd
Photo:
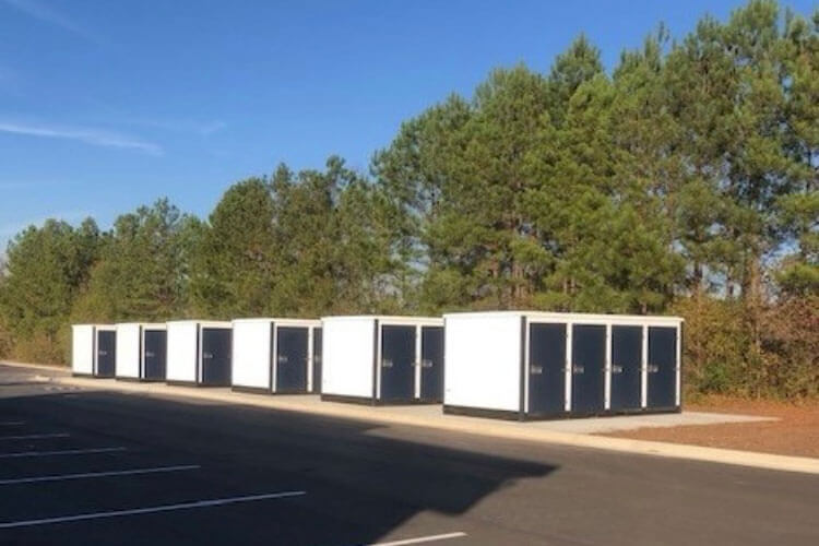
<instances>
[{"instance_id":1,"label":"white side wall of the fourth storage unit from the left","mask_svg":"<svg viewBox=\"0 0 819 546\"><path fill-rule=\"evenodd\" d=\"M233 385L270 389L272 321L235 321Z\"/></svg>"}]
</instances>

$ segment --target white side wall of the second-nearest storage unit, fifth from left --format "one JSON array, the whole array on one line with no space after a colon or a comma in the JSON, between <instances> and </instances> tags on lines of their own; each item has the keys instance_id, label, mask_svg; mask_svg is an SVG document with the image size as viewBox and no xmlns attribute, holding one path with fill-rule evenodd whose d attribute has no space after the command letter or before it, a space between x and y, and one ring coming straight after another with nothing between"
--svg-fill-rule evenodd
<instances>
[{"instance_id":1,"label":"white side wall of the second-nearest storage unit, fifth from left","mask_svg":"<svg viewBox=\"0 0 819 546\"><path fill-rule=\"evenodd\" d=\"M375 319L322 319L321 392L372 397Z\"/></svg>"}]
</instances>

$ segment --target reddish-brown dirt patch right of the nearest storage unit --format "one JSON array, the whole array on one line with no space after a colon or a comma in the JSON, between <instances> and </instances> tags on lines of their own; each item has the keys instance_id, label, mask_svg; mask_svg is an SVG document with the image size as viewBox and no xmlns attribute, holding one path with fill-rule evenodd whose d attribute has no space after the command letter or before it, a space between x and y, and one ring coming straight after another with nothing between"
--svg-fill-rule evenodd
<instances>
[{"instance_id":1,"label":"reddish-brown dirt patch right of the nearest storage unit","mask_svg":"<svg viewBox=\"0 0 819 546\"><path fill-rule=\"evenodd\" d=\"M778 417L775 422L640 428L602 436L819 458L819 401L799 404L710 396L686 404L692 412Z\"/></svg>"}]
</instances>

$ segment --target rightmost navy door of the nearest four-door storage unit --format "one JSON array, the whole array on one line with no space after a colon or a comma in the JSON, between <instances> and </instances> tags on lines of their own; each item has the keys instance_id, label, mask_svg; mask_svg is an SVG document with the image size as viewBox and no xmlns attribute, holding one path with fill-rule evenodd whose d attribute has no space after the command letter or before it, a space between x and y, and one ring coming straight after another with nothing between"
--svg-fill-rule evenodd
<instances>
[{"instance_id":1,"label":"rightmost navy door of the nearest four-door storage unit","mask_svg":"<svg viewBox=\"0 0 819 546\"><path fill-rule=\"evenodd\" d=\"M677 399L677 329L649 328L646 405L673 408Z\"/></svg>"}]
</instances>

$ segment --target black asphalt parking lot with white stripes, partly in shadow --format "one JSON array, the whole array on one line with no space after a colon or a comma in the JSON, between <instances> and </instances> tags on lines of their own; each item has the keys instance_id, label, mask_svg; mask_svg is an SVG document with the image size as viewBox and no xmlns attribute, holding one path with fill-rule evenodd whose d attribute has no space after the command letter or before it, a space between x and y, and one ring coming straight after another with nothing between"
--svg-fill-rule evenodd
<instances>
[{"instance_id":1,"label":"black asphalt parking lot with white stripes, partly in shadow","mask_svg":"<svg viewBox=\"0 0 819 546\"><path fill-rule=\"evenodd\" d=\"M819 543L817 476L10 373L1 544Z\"/></svg>"}]
</instances>

